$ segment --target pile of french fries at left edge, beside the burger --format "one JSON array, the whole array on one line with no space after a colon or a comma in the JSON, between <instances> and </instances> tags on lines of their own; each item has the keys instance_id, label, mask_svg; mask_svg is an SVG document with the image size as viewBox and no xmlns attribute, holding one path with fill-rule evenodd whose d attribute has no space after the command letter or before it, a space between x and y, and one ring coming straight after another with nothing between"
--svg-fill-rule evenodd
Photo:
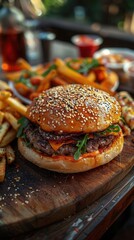
<instances>
[{"instance_id":1,"label":"pile of french fries at left edge, beside the burger","mask_svg":"<svg viewBox=\"0 0 134 240\"><path fill-rule=\"evenodd\" d=\"M18 119L25 116L26 106L12 96L8 84L0 81L0 182L4 181L6 164L15 160L12 141L19 127Z\"/></svg>"}]
</instances>

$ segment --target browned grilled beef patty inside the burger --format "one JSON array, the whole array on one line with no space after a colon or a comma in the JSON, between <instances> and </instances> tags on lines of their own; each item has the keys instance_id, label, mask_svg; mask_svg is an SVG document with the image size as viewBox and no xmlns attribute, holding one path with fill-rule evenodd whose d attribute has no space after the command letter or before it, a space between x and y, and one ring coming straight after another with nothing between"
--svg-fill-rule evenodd
<instances>
[{"instance_id":1,"label":"browned grilled beef patty inside the burger","mask_svg":"<svg viewBox=\"0 0 134 240\"><path fill-rule=\"evenodd\" d=\"M77 140L83 139L84 135L82 133L73 133L73 134L55 134L51 132L43 131L39 126L29 122L27 127L24 130L24 134L28 142L37 150L41 151L44 154L49 156L52 155L66 155L72 156L77 150ZM106 148L110 145L115 136L97 136L89 138L87 141L86 152L94 152L100 148ZM62 142L66 140L75 140L74 143L64 144L57 151L55 151L49 140Z\"/></svg>"}]
</instances>

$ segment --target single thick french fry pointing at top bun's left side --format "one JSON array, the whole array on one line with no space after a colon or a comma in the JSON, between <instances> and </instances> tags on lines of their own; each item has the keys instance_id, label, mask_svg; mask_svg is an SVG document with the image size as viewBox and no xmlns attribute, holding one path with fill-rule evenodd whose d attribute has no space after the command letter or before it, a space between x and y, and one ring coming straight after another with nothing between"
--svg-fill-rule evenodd
<instances>
[{"instance_id":1,"label":"single thick french fry pointing at top bun's left side","mask_svg":"<svg viewBox=\"0 0 134 240\"><path fill-rule=\"evenodd\" d=\"M5 101L17 112L22 114L23 116L26 115L27 107L20 103L17 99L9 97L5 99Z\"/></svg>"}]
</instances>

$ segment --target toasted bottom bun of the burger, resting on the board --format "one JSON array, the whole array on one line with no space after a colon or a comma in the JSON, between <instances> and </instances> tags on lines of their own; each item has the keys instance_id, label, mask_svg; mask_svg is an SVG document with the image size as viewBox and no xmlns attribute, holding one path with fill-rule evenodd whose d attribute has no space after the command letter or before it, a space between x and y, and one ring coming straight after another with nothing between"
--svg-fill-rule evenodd
<instances>
[{"instance_id":1,"label":"toasted bottom bun of the burger, resting on the board","mask_svg":"<svg viewBox=\"0 0 134 240\"><path fill-rule=\"evenodd\" d=\"M22 138L18 139L18 149L22 156L38 167L62 173L84 172L99 167L114 159L123 149L124 138L122 132L103 152L86 153L79 160L72 156L47 156L34 148L26 146Z\"/></svg>"}]
</instances>

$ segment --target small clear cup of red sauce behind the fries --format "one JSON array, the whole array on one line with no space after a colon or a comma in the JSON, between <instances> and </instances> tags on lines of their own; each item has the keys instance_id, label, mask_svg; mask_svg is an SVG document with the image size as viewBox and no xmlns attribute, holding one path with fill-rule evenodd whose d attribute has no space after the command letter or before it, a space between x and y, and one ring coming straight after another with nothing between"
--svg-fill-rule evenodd
<instances>
[{"instance_id":1,"label":"small clear cup of red sauce behind the fries","mask_svg":"<svg viewBox=\"0 0 134 240\"><path fill-rule=\"evenodd\" d=\"M78 47L80 57L93 57L103 39L98 35L80 34L72 36L71 41Z\"/></svg>"}]
</instances>

